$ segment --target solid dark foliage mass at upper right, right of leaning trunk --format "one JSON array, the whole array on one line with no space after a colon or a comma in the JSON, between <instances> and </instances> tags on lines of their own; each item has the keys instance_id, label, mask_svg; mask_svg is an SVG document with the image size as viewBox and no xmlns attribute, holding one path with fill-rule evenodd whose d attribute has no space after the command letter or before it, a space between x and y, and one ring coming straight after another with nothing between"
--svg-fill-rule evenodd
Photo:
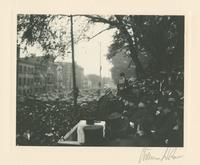
<instances>
[{"instance_id":1,"label":"solid dark foliage mass at upper right, right of leaning trunk","mask_svg":"<svg viewBox=\"0 0 200 165\"><path fill-rule=\"evenodd\" d=\"M151 70L157 73L162 70L170 72L181 64L180 61L183 65L184 17L146 16L143 22L142 25L137 23L141 34L139 41L153 58Z\"/></svg>"}]
</instances>

